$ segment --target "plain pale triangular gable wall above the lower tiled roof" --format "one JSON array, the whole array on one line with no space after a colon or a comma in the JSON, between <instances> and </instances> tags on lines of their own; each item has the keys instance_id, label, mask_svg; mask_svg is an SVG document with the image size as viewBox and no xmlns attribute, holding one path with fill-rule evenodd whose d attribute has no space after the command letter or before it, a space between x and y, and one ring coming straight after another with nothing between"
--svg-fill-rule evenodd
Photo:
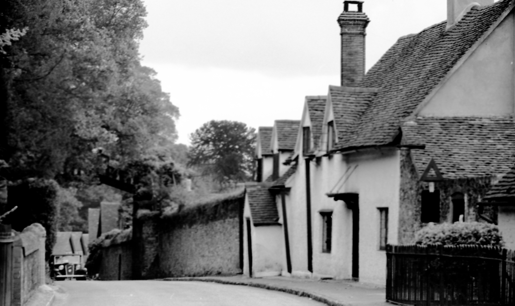
<instances>
[{"instance_id":1,"label":"plain pale triangular gable wall above the lower tiled roof","mask_svg":"<svg viewBox=\"0 0 515 306\"><path fill-rule=\"evenodd\" d=\"M513 70L513 13L510 13L443 84L419 115L512 114Z\"/></svg>"}]
</instances>

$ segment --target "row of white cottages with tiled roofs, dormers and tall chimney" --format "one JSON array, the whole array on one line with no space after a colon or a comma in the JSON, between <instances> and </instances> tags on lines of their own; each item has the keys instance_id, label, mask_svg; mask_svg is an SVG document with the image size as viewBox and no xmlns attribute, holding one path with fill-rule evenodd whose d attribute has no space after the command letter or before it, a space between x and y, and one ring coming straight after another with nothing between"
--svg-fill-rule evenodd
<instances>
[{"instance_id":1,"label":"row of white cottages with tiled roofs, dormers and tall chimney","mask_svg":"<svg viewBox=\"0 0 515 306\"><path fill-rule=\"evenodd\" d=\"M365 74L369 19L345 1L341 86L306 97L290 168L247 189L244 273L385 284L386 244L430 222L496 223L478 203L515 163L514 6L448 0L446 21Z\"/></svg>"}]
</instances>

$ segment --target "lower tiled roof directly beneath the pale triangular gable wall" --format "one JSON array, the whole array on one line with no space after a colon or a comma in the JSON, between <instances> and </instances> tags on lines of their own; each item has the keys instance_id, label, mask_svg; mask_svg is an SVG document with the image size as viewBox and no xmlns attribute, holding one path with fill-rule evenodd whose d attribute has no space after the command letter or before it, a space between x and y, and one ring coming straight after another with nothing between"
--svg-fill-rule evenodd
<instances>
[{"instance_id":1,"label":"lower tiled roof directly beneath the pale triangular gable wall","mask_svg":"<svg viewBox=\"0 0 515 306\"><path fill-rule=\"evenodd\" d=\"M419 175L431 159L444 178L504 174L515 163L513 117L418 117L402 126Z\"/></svg>"}]
</instances>

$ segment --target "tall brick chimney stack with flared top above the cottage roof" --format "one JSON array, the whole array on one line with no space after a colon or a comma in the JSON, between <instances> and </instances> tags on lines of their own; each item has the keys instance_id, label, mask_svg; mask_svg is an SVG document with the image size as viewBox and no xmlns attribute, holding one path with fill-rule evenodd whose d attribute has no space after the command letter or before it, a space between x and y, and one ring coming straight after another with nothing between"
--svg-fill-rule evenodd
<instances>
[{"instance_id":1,"label":"tall brick chimney stack with flared top above the cottage roof","mask_svg":"<svg viewBox=\"0 0 515 306\"><path fill-rule=\"evenodd\" d=\"M353 6L357 9L353 10ZM341 86L354 87L365 75L365 36L370 20L363 1L345 1L338 17L341 31Z\"/></svg>"}]
</instances>

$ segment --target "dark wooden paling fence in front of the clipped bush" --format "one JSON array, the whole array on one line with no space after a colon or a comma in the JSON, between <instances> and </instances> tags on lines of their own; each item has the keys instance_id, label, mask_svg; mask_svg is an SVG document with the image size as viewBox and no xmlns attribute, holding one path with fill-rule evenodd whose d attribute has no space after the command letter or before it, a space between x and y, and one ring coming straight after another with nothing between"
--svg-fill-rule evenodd
<instances>
[{"instance_id":1,"label":"dark wooden paling fence in front of the clipped bush","mask_svg":"<svg viewBox=\"0 0 515 306\"><path fill-rule=\"evenodd\" d=\"M515 251L483 246L386 248L386 299L409 305L515 305Z\"/></svg>"}]
</instances>

